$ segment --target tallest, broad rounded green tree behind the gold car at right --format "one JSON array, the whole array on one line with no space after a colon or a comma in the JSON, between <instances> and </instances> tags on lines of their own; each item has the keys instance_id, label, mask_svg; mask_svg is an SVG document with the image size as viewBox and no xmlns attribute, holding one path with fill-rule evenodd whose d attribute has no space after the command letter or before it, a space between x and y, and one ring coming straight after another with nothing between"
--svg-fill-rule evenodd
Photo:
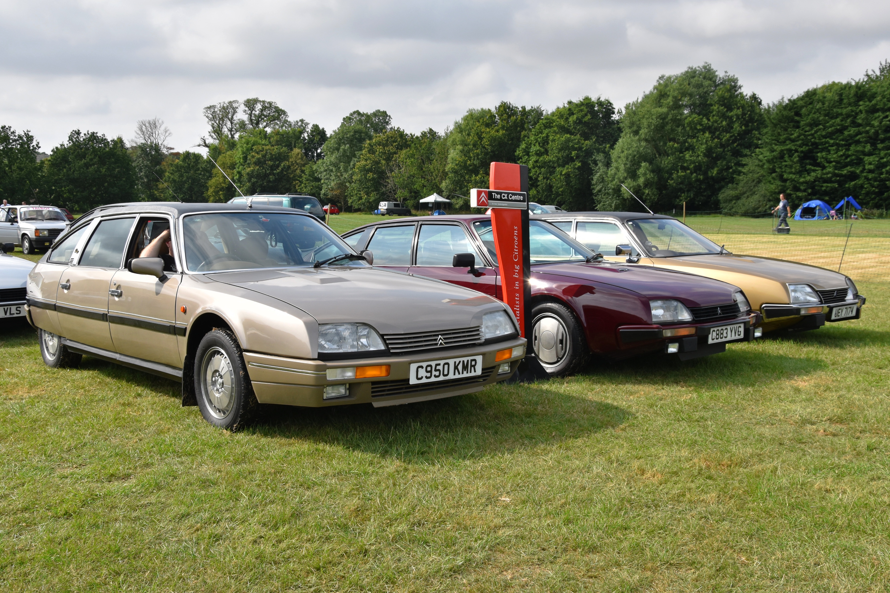
<instances>
[{"instance_id":1,"label":"tallest, broad rounded green tree behind the gold car at right","mask_svg":"<svg viewBox=\"0 0 890 593\"><path fill-rule=\"evenodd\" d=\"M611 152L608 183L595 174L600 210L639 210L627 185L656 212L680 207L716 210L718 195L756 148L765 119L756 94L710 64L660 76L627 105Z\"/></svg>"}]
</instances>

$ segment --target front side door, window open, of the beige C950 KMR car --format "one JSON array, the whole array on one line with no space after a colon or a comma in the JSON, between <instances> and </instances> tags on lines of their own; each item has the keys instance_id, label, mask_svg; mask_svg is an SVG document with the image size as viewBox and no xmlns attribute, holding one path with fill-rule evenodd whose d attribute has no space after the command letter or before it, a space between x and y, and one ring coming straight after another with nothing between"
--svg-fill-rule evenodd
<instances>
[{"instance_id":1,"label":"front side door, window open, of the beige C950 KMR car","mask_svg":"<svg viewBox=\"0 0 890 593\"><path fill-rule=\"evenodd\" d=\"M127 259L139 257L142 249L167 228L171 220L163 216L143 216L136 223L127 248ZM174 253L176 252L174 236ZM161 278L118 269L109 291L109 329L114 349L128 357L162 365L182 367L176 327L176 292L182 280L182 266L166 271Z\"/></svg>"}]
</instances>

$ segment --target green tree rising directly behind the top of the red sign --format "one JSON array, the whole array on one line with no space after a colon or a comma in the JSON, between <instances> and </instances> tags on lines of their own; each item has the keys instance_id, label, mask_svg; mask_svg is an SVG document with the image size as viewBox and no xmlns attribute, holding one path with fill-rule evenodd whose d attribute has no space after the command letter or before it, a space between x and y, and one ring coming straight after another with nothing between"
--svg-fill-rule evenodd
<instances>
[{"instance_id":1,"label":"green tree rising directly behind the top of the red sign","mask_svg":"<svg viewBox=\"0 0 890 593\"><path fill-rule=\"evenodd\" d=\"M468 110L449 133L448 177L443 191L467 196L471 188L488 188L491 162L515 163L522 140L543 116L540 107L516 107L506 101L494 109ZM457 199L455 205L465 204Z\"/></svg>"}]
</instances>

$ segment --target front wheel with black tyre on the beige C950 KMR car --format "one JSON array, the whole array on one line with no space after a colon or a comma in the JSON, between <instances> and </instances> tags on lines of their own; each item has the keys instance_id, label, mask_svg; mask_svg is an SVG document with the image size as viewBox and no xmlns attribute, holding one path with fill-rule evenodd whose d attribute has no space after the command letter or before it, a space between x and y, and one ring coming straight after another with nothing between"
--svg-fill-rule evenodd
<instances>
[{"instance_id":1,"label":"front wheel with black tyre on the beige C950 KMR car","mask_svg":"<svg viewBox=\"0 0 890 593\"><path fill-rule=\"evenodd\" d=\"M259 405L235 335L214 329L195 352L195 396L204 419L216 427L238 430Z\"/></svg>"}]
</instances>

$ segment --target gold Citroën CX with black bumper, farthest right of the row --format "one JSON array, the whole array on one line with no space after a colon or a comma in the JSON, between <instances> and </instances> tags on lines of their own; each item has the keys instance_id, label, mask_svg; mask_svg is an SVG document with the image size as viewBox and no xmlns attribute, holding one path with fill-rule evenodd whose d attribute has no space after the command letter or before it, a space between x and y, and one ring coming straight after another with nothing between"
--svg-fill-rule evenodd
<instances>
[{"instance_id":1,"label":"gold Citro\u00ebn CX with black bumper, farthest right of the row","mask_svg":"<svg viewBox=\"0 0 890 593\"><path fill-rule=\"evenodd\" d=\"M800 332L859 319L865 297L853 280L795 261L737 255L680 220L640 212L557 212L532 218L561 228L607 260L675 269L735 284L763 314L765 333Z\"/></svg>"}]
</instances>

